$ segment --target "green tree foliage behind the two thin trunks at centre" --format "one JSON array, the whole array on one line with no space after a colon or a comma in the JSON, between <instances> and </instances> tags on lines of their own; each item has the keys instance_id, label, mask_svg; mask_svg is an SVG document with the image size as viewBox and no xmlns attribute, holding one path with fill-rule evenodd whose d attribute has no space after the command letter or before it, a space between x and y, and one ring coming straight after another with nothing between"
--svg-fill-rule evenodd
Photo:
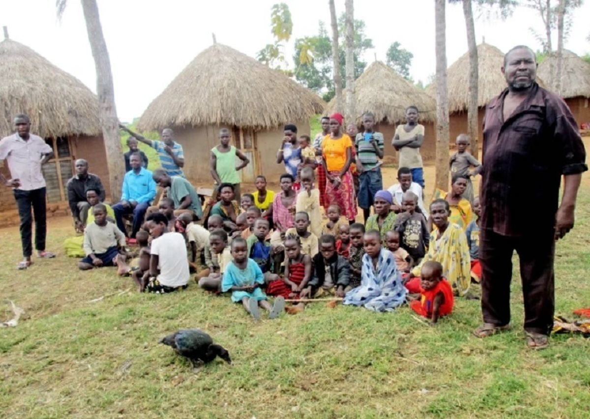
<instances>
[{"instance_id":1,"label":"green tree foliage behind the two thin trunks at centre","mask_svg":"<svg viewBox=\"0 0 590 419\"><path fill-rule=\"evenodd\" d=\"M339 27L339 44L343 45L339 51L340 73L345 74L345 15L340 15L338 19ZM365 22L355 19L355 38L354 38L354 55L355 55L355 78L365 70L366 61L362 60L362 54L373 48L373 41L366 37ZM332 38L328 35L323 22L319 22L317 35L310 37L297 38L295 40L295 54L293 55L295 63L295 78L299 83L308 89L317 91L322 94L323 99L329 101L334 97L334 83L332 78ZM343 87L346 87L343 80Z\"/></svg>"}]
</instances>

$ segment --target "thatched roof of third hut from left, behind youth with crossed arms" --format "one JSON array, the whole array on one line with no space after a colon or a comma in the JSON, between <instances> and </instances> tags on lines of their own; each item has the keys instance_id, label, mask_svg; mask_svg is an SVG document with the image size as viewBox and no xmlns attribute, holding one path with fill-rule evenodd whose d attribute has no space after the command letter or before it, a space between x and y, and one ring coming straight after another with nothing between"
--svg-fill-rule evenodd
<instances>
[{"instance_id":1,"label":"thatched roof of third hut from left, behind youth with crossed arms","mask_svg":"<svg viewBox=\"0 0 590 419\"><path fill-rule=\"evenodd\" d=\"M375 61L363 71L355 81L357 122L364 112L375 114L376 122L385 120L390 124L401 123L405 119L405 109L415 105L420 111L421 122L434 122L436 103L425 91L399 76L394 70ZM343 92L346 100L346 89ZM326 112L344 113L336 109L336 99L330 100Z\"/></svg>"}]
</instances>

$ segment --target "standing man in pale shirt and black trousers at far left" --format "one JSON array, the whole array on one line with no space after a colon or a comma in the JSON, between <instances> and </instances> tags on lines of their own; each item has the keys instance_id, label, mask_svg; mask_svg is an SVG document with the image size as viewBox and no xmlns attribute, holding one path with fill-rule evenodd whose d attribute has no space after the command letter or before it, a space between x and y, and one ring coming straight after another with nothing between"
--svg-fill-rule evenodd
<instances>
[{"instance_id":1,"label":"standing man in pale shirt and black trousers at far left","mask_svg":"<svg viewBox=\"0 0 590 419\"><path fill-rule=\"evenodd\" d=\"M40 136L30 133L31 121L25 114L14 118L17 129L12 135L0 140L0 160L8 162L12 179L6 179L0 173L0 182L14 190L17 201L18 216L21 219L21 243L24 259L18 263L18 269L31 266L32 254L32 213L35 216L35 249L37 256L42 258L55 257L45 251L45 179L41 166L53 157L53 149Z\"/></svg>"}]
</instances>

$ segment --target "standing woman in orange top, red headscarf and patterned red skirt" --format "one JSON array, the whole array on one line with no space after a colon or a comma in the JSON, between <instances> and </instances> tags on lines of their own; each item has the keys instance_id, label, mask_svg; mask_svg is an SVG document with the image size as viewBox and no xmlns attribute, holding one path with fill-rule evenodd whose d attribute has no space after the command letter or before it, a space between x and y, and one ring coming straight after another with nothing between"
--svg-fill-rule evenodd
<instances>
[{"instance_id":1,"label":"standing woman in orange top, red headscarf and patterned red skirt","mask_svg":"<svg viewBox=\"0 0 590 419\"><path fill-rule=\"evenodd\" d=\"M338 205L346 220L356 218L355 188L349 168L352 162L352 140L342 133L342 114L330 116L330 133L322 141L322 164L326 171L326 208Z\"/></svg>"}]
</instances>

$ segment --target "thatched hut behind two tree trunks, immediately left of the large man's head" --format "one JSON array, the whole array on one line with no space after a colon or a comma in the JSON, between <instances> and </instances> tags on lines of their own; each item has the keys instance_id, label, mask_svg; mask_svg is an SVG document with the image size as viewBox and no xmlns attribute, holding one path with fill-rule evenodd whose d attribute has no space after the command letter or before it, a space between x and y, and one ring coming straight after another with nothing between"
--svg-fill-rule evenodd
<instances>
[{"instance_id":1,"label":"thatched hut behind two tree trunks, immediately left of the large man's head","mask_svg":"<svg viewBox=\"0 0 590 419\"><path fill-rule=\"evenodd\" d=\"M493 45L485 42L477 45L477 63L478 63L478 90L477 106L478 126L479 126L479 143L483 134L481 125L483 116L486 113L486 105L493 97L501 93L506 88L506 79L501 73L500 68L504 64L504 53ZM450 123L450 143L455 143L455 138L460 133L467 133L467 103L469 102L469 53L451 64L447 69L447 88L448 88L448 110ZM427 87L426 91L436 97L436 83Z\"/></svg>"}]
</instances>

